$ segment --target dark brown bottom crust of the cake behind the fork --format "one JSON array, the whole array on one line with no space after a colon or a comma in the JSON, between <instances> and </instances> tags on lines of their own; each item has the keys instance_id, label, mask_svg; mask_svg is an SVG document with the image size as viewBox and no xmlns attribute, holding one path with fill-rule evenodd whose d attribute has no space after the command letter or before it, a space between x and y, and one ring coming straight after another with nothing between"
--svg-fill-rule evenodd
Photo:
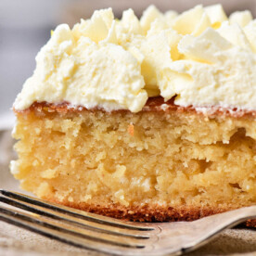
<instances>
[{"instance_id":1,"label":"dark brown bottom crust of the cake behind the fork","mask_svg":"<svg viewBox=\"0 0 256 256\"><path fill-rule=\"evenodd\" d=\"M120 204L96 205L84 202L70 202L67 200L58 201L56 198L45 199L78 210L89 211L92 213L130 222L192 222L206 216L234 210L224 208L211 209L210 207L202 208L192 206L180 206L178 208L173 208L160 205L125 207ZM245 223L245 225L256 228L256 220L249 220Z\"/></svg>"}]
</instances>

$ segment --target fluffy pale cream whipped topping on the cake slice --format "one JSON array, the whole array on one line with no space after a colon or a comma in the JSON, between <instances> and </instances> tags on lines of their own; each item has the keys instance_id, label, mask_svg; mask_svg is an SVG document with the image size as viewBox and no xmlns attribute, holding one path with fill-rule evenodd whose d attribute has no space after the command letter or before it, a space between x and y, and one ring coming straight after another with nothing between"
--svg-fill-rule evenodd
<instances>
[{"instance_id":1,"label":"fluffy pale cream whipped topping on the cake slice","mask_svg":"<svg viewBox=\"0 0 256 256\"><path fill-rule=\"evenodd\" d=\"M149 6L114 19L97 10L72 29L59 25L36 57L14 108L33 102L87 109L143 109L150 96L180 106L256 110L256 20L221 5L182 14Z\"/></svg>"}]
</instances>

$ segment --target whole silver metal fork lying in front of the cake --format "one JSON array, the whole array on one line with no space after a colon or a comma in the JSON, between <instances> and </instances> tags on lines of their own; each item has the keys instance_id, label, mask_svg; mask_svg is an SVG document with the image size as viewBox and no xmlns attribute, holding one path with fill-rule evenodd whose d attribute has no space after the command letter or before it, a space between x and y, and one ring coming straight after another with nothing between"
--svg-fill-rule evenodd
<instances>
[{"instance_id":1,"label":"whole silver metal fork lying in front of the cake","mask_svg":"<svg viewBox=\"0 0 256 256\"><path fill-rule=\"evenodd\" d=\"M0 190L0 220L66 244L115 255L179 255L228 227L256 218L256 206L186 223L129 223ZM22 211L18 211L19 208Z\"/></svg>"}]
</instances>

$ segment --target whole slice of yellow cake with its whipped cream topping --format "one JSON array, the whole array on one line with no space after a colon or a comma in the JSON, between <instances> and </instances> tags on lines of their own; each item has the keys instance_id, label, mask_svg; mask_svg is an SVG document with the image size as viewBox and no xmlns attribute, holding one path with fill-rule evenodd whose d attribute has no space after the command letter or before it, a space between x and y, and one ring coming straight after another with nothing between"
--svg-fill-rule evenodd
<instances>
[{"instance_id":1,"label":"whole slice of yellow cake with its whipped cream topping","mask_svg":"<svg viewBox=\"0 0 256 256\"><path fill-rule=\"evenodd\" d=\"M255 205L255 24L216 5L59 25L14 103L11 172L39 198L130 221Z\"/></svg>"}]
</instances>

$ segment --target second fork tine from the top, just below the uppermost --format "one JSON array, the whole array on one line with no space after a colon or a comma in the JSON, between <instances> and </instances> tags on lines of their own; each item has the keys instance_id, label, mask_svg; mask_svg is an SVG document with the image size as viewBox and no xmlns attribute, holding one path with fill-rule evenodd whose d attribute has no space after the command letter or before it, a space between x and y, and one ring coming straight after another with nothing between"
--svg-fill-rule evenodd
<instances>
[{"instance_id":1,"label":"second fork tine from the top, just below the uppermost","mask_svg":"<svg viewBox=\"0 0 256 256\"><path fill-rule=\"evenodd\" d=\"M80 226L101 234L104 233L104 234L109 234L111 236L128 237L128 238L131 237L135 239L149 238L149 236L147 235L148 232L141 232L141 231L138 232L134 230L131 231L131 230L125 230L117 227L108 226L105 224L96 224L96 223L87 222L87 221L84 221L60 212L51 211L49 209L45 209L39 206L34 206L27 202L20 202L19 200L13 199L13 198L4 198L0 196L0 201L8 205L17 207L19 209L22 209L24 211L30 211L45 217L50 217L54 220L64 221L65 223L75 224L77 226Z\"/></svg>"}]
</instances>

